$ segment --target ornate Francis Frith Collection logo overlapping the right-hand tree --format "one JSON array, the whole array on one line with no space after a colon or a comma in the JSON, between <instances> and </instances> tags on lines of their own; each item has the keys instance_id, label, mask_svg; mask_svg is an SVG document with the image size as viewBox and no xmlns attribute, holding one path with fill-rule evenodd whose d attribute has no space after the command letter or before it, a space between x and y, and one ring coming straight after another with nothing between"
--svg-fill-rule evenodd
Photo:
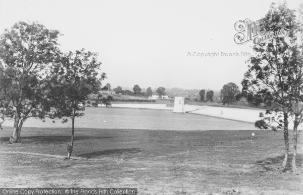
<instances>
[{"instance_id":1,"label":"ornate Francis Frith Collection logo overlapping the right-hand tree","mask_svg":"<svg viewBox=\"0 0 303 195\"><path fill-rule=\"evenodd\" d=\"M284 30L281 30L279 33L261 30L261 21L262 20L252 22L249 19L245 19L243 21L239 20L236 22L235 30L238 31L238 33L235 34L234 41L237 44L243 44L249 41L253 41L254 44L260 44L272 39L274 36L285 36Z\"/></svg>"}]
</instances>

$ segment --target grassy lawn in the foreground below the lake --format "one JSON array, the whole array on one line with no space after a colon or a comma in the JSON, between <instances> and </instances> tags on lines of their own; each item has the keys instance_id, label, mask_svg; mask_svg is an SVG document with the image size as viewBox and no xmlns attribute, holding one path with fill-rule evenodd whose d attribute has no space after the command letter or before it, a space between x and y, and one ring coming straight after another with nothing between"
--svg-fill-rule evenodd
<instances>
[{"instance_id":1,"label":"grassy lawn in the foreground below the lake","mask_svg":"<svg viewBox=\"0 0 303 195\"><path fill-rule=\"evenodd\" d=\"M138 187L139 194L303 191L302 139L301 173L281 172L282 132L254 131L252 137L253 131L76 129L73 156L83 159L64 160L70 129L24 128L20 142L8 144L11 130L0 132L1 187Z\"/></svg>"}]
</instances>

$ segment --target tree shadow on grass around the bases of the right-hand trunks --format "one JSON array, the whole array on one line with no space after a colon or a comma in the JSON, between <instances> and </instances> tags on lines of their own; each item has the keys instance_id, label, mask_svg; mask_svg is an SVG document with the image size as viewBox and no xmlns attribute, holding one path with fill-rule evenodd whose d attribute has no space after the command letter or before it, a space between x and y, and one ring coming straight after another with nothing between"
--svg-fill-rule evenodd
<instances>
[{"instance_id":1,"label":"tree shadow on grass around the bases of the right-hand trunks","mask_svg":"<svg viewBox=\"0 0 303 195\"><path fill-rule=\"evenodd\" d=\"M288 154L288 160L287 160L287 168L291 166L291 159L292 154ZM264 160L257 160L256 165L261 165L264 167L268 166L282 166L282 161L284 160L284 155L276 156L276 157L268 157ZM302 167L303 165L303 155L296 154L296 165L298 167Z\"/></svg>"}]
</instances>

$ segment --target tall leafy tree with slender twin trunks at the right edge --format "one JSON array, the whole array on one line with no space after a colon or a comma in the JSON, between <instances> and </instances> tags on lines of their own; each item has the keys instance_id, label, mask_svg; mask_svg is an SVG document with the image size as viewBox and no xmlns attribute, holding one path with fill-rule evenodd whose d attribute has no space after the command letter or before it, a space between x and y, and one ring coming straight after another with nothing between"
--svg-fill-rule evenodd
<instances>
[{"instance_id":1,"label":"tall leafy tree with slender twin trunks at the right edge","mask_svg":"<svg viewBox=\"0 0 303 195\"><path fill-rule=\"evenodd\" d=\"M260 129L283 130L285 155L282 169L286 170L289 152L289 119L294 118L292 171L296 172L297 127L302 122L303 108L303 5L296 13L287 4L272 4L262 21L263 31L271 34L267 42L254 46L256 55L249 58L248 70L242 80L242 94L250 103L275 105L260 113L255 123ZM286 36L281 36L281 35ZM277 126L272 126L275 123Z\"/></svg>"}]
</instances>

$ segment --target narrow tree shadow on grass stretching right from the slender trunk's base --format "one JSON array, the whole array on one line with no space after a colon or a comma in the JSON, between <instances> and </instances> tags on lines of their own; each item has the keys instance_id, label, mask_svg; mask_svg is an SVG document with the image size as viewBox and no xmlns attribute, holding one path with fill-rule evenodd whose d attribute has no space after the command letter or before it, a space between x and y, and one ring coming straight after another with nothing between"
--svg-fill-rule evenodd
<instances>
[{"instance_id":1,"label":"narrow tree shadow on grass stretching right from the slender trunk's base","mask_svg":"<svg viewBox=\"0 0 303 195\"><path fill-rule=\"evenodd\" d=\"M94 158L102 155L110 155L110 154L125 154L125 153L138 153L141 152L140 148L124 148L124 149L110 149L110 150L102 150L102 151L95 151L90 153L79 154L78 156L84 158Z\"/></svg>"}]
</instances>

